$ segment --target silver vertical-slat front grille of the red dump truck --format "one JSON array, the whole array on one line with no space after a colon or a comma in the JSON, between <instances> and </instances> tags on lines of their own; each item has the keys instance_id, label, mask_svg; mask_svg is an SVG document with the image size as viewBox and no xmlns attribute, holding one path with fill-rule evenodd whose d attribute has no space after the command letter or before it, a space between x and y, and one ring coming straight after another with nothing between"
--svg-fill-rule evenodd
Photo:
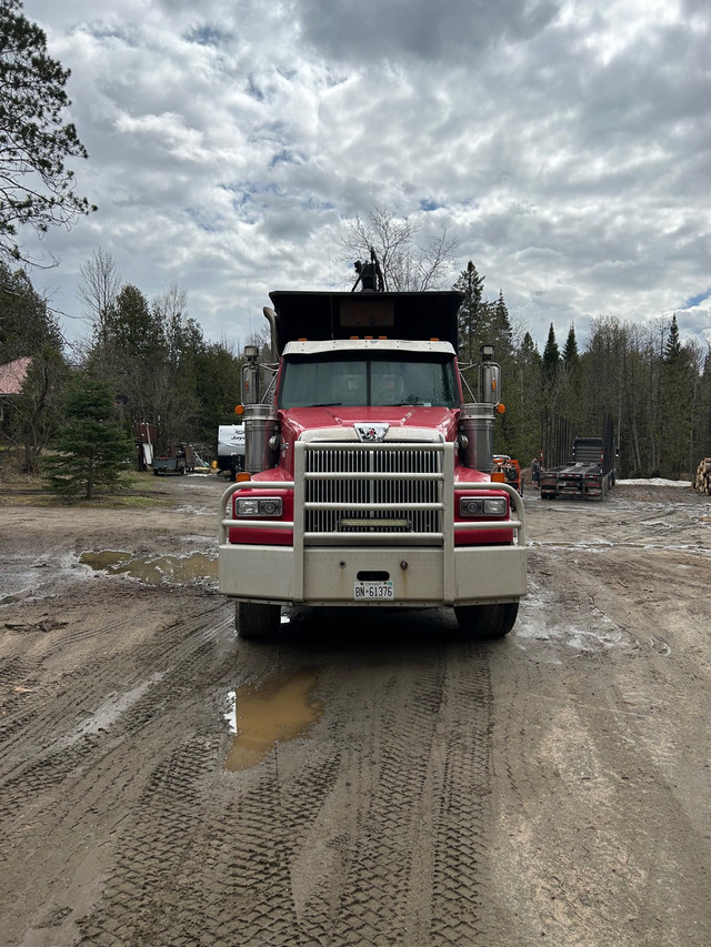
<instances>
[{"instance_id":1,"label":"silver vertical-slat front grille of the red dump truck","mask_svg":"<svg viewBox=\"0 0 711 947\"><path fill-rule=\"evenodd\" d=\"M309 444L306 500L316 508L307 506L306 531L441 533L441 510L413 508L441 503L441 467L442 453L432 447Z\"/></svg>"}]
</instances>

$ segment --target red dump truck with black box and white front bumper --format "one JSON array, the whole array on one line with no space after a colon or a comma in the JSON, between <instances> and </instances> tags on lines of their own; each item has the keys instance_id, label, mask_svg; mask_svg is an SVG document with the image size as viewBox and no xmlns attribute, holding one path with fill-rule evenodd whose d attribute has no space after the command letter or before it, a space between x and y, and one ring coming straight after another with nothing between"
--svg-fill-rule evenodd
<instances>
[{"instance_id":1,"label":"red dump truck with black box and white front bumper","mask_svg":"<svg viewBox=\"0 0 711 947\"><path fill-rule=\"evenodd\" d=\"M445 605L465 634L505 635L527 591L524 510L492 478L503 406L489 346L480 400L462 397L461 294L270 299L273 377L248 346L246 471L220 507L219 587L239 635L276 634L283 605Z\"/></svg>"}]
</instances>

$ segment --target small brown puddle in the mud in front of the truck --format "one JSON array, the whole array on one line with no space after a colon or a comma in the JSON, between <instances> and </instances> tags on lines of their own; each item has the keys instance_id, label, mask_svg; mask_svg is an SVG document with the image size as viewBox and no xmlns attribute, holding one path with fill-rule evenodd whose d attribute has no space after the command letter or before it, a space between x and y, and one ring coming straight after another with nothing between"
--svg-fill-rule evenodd
<instances>
[{"instance_id":1,"label":"small brown puddle in the mud in front of the truck","mask_svg":"<svg viewBox=\"0 0 711 947\"><path fill-rule=\"evenodd\" d=\"M302 736L323 713L323 703L311 696L316 684L316 672L298 671L258 687L238 687L231 716L236 736L224 768L250 769L277 744Z\"/></svg>"}]
</instances>

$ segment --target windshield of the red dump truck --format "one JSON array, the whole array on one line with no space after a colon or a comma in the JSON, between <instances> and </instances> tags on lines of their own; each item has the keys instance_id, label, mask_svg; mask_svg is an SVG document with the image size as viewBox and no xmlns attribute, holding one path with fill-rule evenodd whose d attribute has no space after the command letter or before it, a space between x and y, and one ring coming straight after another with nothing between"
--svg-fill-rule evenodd
<instances>
[{"instance_id":1,"label":"windshield of the red dump truck","mask_svg":"<svg viewBox=\"0 0 711 947\"><path fill-rule=\"evenodd\" d=\"M459 407L454 361L447 355L392 352L290 355L277 396L279 407L422 405Z\"/></svg>"}]
</instances>

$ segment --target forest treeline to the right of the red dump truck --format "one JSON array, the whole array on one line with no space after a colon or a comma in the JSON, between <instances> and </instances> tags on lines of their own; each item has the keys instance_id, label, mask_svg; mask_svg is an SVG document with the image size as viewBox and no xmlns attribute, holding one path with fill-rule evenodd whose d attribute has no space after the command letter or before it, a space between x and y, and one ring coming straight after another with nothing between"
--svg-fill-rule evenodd
<instances>
[{"instance_id":1,"label":"forest treeline to the right of the red dump truck","mask_svg":"<svg viewBox=\"0 0 711 947\"><path fill-rule=\"evenodd\" d=\"M609 416L620 476L690 480L711 456L711 346L682 343L675 314L645 323L599 316L582 347L573 325L561 347L551 323L541 353L529 332L514 331L502 293L483 298L483 282L469 263L455 283L464 293L459 349L461 362L475 361L481 344L495 346L507 407L497 451L528 464L552 420L602 436ZM473 380L474 370L464 375Z\"/></svg>"}]
</instances>

